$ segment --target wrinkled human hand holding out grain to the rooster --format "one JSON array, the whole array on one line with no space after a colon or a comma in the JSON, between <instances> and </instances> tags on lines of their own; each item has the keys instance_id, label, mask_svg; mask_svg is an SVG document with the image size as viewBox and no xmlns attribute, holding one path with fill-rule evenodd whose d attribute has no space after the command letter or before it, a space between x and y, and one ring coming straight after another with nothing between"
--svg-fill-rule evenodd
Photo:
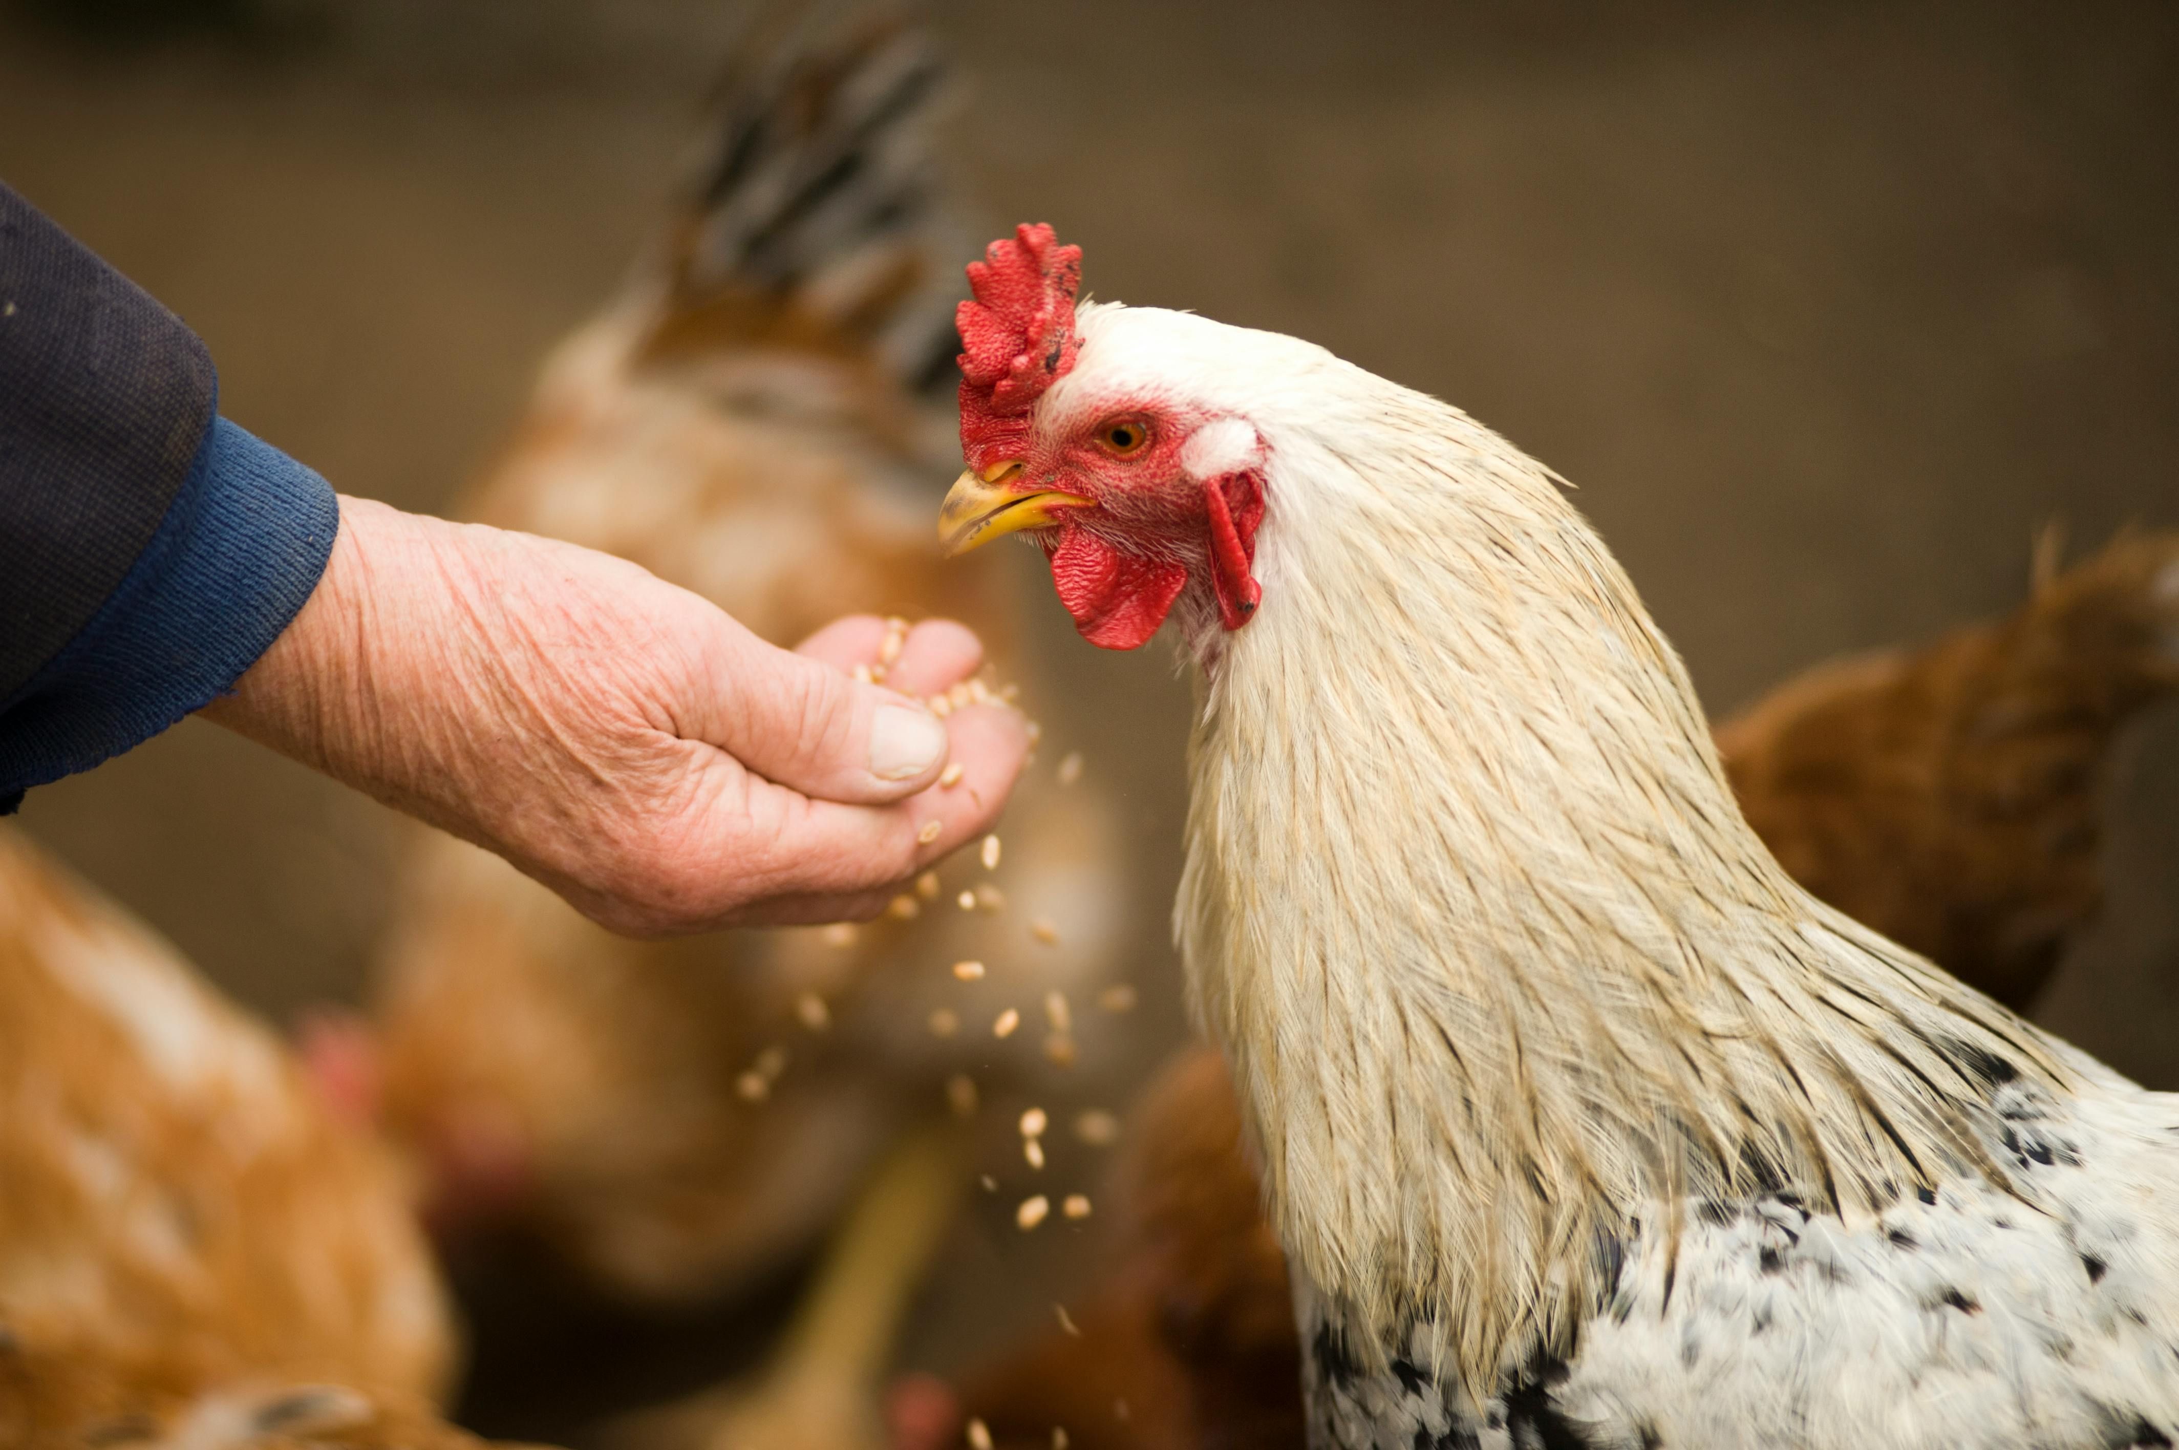
<instances>
[{"instance_id":1,"label":"wrinkled human hand holding out grain to the rooster","mask_svg":"<svg viewBox=\"0 0 2179 1450\"><path fill-rule=\"evenodd\" d=\"M1028 752L1011 709L915 700L976 672L970 630L915 626L904 693L848 674L882 637L776 650L628 560L344 497L318 591L203 713L614 931L867 918L991 826Z\"/></svg>"}]
</instances>

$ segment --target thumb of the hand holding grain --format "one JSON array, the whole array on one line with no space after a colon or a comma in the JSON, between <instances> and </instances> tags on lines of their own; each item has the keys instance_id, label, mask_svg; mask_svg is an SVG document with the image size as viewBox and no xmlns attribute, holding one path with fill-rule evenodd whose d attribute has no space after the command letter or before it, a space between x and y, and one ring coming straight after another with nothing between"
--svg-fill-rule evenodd
<instances>
[{"instance_id":1,"label":"thumb of the hand holding grain","mask_svg":"<svg viewBox=\"0 0 2179 1450\"><path fill-rule=\"evenodd\" d=\"M885 805L946 765L946 722L920 700L778 650L739 624L717 641L706 674L710 700L691 739L804 796Z\"/></svg>"}]
</instances>

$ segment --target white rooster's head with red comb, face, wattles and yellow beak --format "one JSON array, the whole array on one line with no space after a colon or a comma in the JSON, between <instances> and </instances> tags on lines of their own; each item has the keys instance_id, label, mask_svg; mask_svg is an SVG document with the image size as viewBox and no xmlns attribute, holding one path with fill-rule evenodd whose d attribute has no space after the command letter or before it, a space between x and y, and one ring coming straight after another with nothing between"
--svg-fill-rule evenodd
<instances>
[{"instance_id":1,"label":"white rooster's head with red comb, face, wattles and yellow beak","mask_svg":"<svg viewBox=\"0 0 2179 1450\"><path fill-rule=\"evenodd\" d=\"M967 471L939 517L946 552L1026 532L1074 628L1107 650L1146 643L1190 589L1222 628L1249 624L1264 593L1253 576L1264 443L1192 386L1216 375L1190 368L1203 362L1192 325L1216 325L1111 305L1076 316L1081 249L1044 225L991 242L967 279L974 301L957 314ZM1120 314L1157 325L1120 327Z\"/></svg>"}]
</instances>

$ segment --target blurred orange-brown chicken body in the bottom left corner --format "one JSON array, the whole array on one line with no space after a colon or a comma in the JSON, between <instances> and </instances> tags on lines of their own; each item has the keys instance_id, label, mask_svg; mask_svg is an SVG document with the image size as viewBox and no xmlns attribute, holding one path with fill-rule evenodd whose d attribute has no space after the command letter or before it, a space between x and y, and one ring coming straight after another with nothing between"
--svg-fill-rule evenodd
<instances>
[{"instance_id":1,"label":"blurred orange-brown chicken body in the bottom left corner","mask_svg":"<svg viewBox=\"0 0 2179 1450\"><path fill-rule=\"evenodd\" d=\"M477 1443L388 1156L13 831L0 1001L0 1443Z\"/></svg>"}]
</instances>

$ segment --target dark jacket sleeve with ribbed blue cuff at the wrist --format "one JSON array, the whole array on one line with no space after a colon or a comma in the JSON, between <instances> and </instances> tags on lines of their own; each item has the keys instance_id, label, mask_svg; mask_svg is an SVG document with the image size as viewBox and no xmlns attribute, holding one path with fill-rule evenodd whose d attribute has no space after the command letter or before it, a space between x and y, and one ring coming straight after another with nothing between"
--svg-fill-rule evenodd
<instances>
[{"instance_id":1,"label":"dark jacket sleeve with ribbed blue cuff at the wrist","mask_svg":"<svg viewBox=\"0 0 2179 1450\"><path fill-rule=\"evenodd\" d=\"M0 188L0 815L233 687L331 486L214 410L203 345Z\"/></svg>"}]
</instances>

